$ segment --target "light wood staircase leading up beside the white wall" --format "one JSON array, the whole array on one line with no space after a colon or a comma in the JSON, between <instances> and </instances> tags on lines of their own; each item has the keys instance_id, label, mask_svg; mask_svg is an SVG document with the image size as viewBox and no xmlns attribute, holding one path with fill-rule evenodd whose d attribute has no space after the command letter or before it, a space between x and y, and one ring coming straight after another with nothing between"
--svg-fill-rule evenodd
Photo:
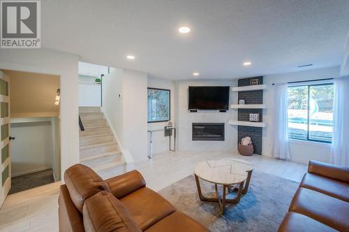
<instances>
[{"instance_id":1,"label":"light wood staircase leading up beside the white wall","mask_svg":"<svg viewBox=\"0 0 349 232\"><path fill-rule=\"evenodd\" d=\"M124 172L124 161L100 107L79 107L84 131L79 131L80 163L102 177Z\"/></svg>"}]
</instances>

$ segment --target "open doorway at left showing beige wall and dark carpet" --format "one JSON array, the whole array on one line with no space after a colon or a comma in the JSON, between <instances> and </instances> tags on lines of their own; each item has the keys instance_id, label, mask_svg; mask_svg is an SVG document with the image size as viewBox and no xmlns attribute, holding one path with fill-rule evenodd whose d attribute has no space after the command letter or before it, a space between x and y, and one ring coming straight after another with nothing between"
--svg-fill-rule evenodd
<instances>
[{"instance_id":1,"label":"open doorway at left showing beige wall and dark carpet","mask_svg":"<svg viewBox=\"0 0 349 232\"><path fill-rule=\"evenodd\" d=\"M8 79L9 194L61 180L59 75L0 74Z\"/></svg>"}]
</instances>

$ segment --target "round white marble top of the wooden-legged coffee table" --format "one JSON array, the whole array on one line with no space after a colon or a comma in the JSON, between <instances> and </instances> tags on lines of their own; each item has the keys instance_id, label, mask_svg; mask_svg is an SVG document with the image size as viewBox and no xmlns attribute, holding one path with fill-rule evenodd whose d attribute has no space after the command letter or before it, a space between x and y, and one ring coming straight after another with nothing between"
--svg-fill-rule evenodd
<instances>
[{"instance_id":1,"label":"round white marble top of the wooden-legged coffee table","mask_svg":"<svg viewBox=\"0 0 349 232\"><path fill-rule=\"evenodd\" d=\"M237 184L247 178L247 171L252 171L253 165L242 159L217 159L202 161L195 167L195 175L202 180L215 184Z\"/></svg>"}]
</instances>

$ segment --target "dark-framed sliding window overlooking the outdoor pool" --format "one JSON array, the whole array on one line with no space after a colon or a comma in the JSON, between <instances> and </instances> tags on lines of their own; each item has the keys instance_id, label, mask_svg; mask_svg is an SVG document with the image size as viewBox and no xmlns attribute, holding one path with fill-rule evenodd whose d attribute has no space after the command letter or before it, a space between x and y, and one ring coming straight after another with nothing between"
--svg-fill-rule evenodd
<instances>
[{"instance_id":1,"label":"dark-framed sliding window overlooking the outdoor pool","mask_svg":"<svg viewBox=\"0 0 349 232\"><path fill-rule=\"evenodd\" d=\"M288 138L332 141L332 83L288 87Z\"/></svg>"}]
</instances>

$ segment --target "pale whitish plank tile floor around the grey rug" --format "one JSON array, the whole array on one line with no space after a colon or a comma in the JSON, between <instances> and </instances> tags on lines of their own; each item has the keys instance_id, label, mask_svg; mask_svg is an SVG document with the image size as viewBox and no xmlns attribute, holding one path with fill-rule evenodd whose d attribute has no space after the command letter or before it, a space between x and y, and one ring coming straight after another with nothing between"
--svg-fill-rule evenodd
<instances>
[{"instance_id":1,"label":"pale whitish plank tile floor around the grey rug","mask_svg":"<svg viewBox=\"0 0 349 232\"><path fill-rule=\"evenodd\" d=\"M300 181L307 166L270 157L242 157L235 152L164 152L135 164L155 191L191 175L195 164L207 159L235 157L250 161L259 171ZM105 173L109 177L112 172ZM59 231L58 194L60 182L29 189L6 198L0 210L0 231Z\"/></svg>"}]
</instances>

